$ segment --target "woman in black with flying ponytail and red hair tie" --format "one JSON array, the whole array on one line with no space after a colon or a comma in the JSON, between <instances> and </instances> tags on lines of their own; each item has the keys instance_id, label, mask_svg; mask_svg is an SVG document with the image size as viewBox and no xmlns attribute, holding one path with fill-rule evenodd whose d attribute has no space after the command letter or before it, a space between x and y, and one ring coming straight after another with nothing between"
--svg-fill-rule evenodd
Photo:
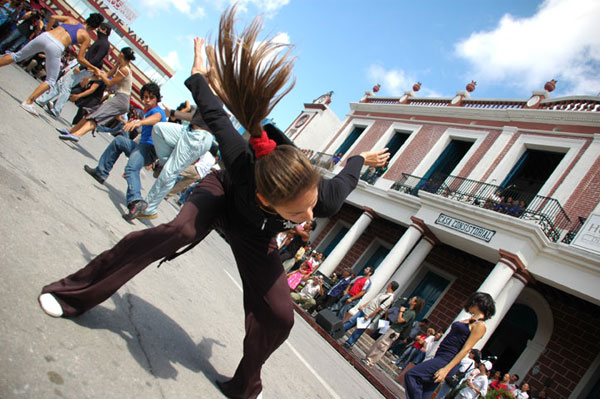
<instances>
[{"instance_id":1,"label":"woman in black with flying ponytail and red hair tie","mask_svg":"<svg viewBox=\"0 0 600 399\"><path fill-rule=\"evenodd\" d=\"M335 214L356 187L361 167L381 166L389 154L382 150L351 157L327 180L277 128L266 125L263 130L261 121L291 89L293 59L289 51L280 52L281 45L257 40L259 20L237 36L234 17L235 7L221 17L215 46L207 49L209 68L201 55L204 41L195 40L192 76L185 82L219 143L225 170L204 178L173 221L128 234L83 269L44 287L39 302L54 317L80 315L152 262L173 259L217 229L233 251L246 314L242 360L229 381L217 384L229 398L253 399L262 392L262 365L294 323L276 235ZM250 132L250 145L232 126L209 83Z\"/></svg>"}]
</instances>

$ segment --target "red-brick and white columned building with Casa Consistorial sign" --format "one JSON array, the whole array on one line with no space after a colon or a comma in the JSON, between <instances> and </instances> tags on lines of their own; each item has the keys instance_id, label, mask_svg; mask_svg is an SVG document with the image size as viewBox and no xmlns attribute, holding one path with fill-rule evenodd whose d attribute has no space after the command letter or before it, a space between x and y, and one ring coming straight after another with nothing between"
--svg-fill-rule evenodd
<instances>
[{"instance_id":1,"label":"red-brick and white columned building with Casa Consistorial sign","mask_svg":"<svg viewBox=\"0 0 600 399\"><path fill-rule=\"evenodd\" d=\"M319 221L323 274L373 266L363 300L395 280L401 296L426 300L419 317L436 329L488 292L497 312L477 346L496 368L551 398L597 398L600 98L551 98L555 83L524 100L473 99L475 82L419 98L416 84L351 103L320 140L305 106L287 133L329 176L352 155L390 149L389 165L365 168L342 211Z\"/></svg>"}]
</instances>

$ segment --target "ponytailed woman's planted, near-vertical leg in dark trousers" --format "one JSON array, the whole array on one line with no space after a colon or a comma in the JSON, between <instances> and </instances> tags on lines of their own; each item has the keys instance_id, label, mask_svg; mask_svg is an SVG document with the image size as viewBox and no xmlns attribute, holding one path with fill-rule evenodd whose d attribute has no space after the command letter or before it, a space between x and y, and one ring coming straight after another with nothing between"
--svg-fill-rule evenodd
<instances>
[{"instance_id":1,"label":"ponytailed woman's planted, near-vertical leg in dark trousers","mask_svg":"<svg viewBox=\"0 0 600 399\"><path fill-rule=\"evenodd\" d=\"M254 399L262 391L262 365L288 337L294 310L275 239L239 225L226 234L244 287L246 336L242 360L220 388L230 398Z\"/></svg>"}]
</instances>

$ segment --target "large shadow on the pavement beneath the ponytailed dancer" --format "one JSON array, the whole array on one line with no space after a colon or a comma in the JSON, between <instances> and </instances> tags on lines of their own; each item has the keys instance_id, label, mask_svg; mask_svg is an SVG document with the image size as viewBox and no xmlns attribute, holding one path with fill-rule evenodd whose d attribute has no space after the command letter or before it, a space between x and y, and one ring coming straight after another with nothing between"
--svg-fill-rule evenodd
<instances>
[{"instance_id":1,"label":"large shadow on the pavement beneath the ponytailed dancer","mask_svg":"<svg viewBox=\"0 0 600 399\"><path fill-rule=\"evenodd\" d=\"M114 294L115 309L97 306L73 321L91 329L114 332L127 344L134 359L149 374L175 379L180 364L193 372L201 372L213 382L227 379L210 363L214 345L225 347L218 340L204 337L196 344L173 319L162 310L132 295Z\"/></svg>"}]
</instances>

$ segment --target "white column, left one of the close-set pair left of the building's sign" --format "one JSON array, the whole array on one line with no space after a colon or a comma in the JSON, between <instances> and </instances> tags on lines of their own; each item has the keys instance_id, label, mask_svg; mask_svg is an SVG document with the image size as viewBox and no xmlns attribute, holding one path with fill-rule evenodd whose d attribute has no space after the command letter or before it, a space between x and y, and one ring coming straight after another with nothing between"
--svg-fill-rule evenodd
<instances>
[{"instance_id":1,"label":"white column, left one of the close-set pair left of the building's sign","mask_svg":"<svg viewBox=\"0 0 600 399\"><path fill-rule=\"evenodd\" d=\"M390 253L377 266L375 273L371 277L371 286L367 293L360 299L358 304L350 310L350 313L355 314L358 306L373 299L379 292L385 288L396 268L406 259L410 250L415 246L417 241L423 236L423 230L414 224L411 224L392 248ZM367 265L368 266L368 265Z\"/></svg>"}]
</instances>

